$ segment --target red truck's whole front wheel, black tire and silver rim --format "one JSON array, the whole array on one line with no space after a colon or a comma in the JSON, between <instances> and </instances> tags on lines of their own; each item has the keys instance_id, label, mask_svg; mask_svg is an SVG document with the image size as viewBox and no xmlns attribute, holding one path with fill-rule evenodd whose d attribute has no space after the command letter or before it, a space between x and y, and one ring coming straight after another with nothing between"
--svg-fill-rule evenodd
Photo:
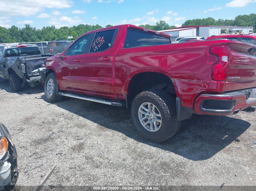
<instances>
[{"instance_id":1,"label":"red truck's whole front wheel, black tire and silver rim","mask_svg":"<svg viewBox=\"0 0 256 191\"><path fill-rule=\"evenodd\" d=\"M62 96L57 94L58 84L54 73L48 74L45 80L45 97L48 102L58 102Z\"/></svg>"}]
</instances>

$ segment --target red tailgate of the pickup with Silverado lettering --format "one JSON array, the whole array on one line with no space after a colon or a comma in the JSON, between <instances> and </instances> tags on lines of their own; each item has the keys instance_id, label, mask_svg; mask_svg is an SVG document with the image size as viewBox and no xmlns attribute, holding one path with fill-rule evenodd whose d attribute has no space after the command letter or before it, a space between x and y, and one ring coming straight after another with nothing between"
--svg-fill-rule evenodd
<instances>
[{"instance_id":1,"label":"red tailgate of the pickup with Silverado lettering","mask_svg":"<svg viewBox=\"0 0 256 191\"><path fill-rule=\"evenodd\" d=\"M225 91L256 87L256 46L231 41Z\"/></svg>"}]
</instances>

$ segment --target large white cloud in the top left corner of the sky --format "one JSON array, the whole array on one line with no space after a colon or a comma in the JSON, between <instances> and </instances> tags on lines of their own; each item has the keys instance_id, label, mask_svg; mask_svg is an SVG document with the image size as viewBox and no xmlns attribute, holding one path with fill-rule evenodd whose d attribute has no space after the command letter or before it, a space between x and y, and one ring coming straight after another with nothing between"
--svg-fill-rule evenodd
<instances>
[{"instance_id":1,"label":"large white cloud in the top left corner of the sky","mask_svg":"<svg viewBox=\"0 0 256 191\"><path fill-rule=\"evenodd\" d=\"M30 16L41 12L44 8L70 8L73 6L71 0L1 0L0 12L2 15Z\"/></svg>"}]
</instances>

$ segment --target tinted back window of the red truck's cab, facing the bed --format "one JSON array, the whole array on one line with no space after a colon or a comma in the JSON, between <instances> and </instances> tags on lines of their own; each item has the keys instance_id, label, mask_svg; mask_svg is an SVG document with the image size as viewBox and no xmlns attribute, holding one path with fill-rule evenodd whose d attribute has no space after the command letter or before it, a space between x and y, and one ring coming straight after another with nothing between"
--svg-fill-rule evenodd
<instances>
[{"instance_id":1,"label":"tinted back window of the red truck's cab, facing the bed","mask_svg":"<svg viewBox=\"0 0 256 191\"><path fill-rule=\"evenodd\" d=\"M170 39L138 30L127 29L124 48L170 44Z\"/></svg>"}]
</instances>

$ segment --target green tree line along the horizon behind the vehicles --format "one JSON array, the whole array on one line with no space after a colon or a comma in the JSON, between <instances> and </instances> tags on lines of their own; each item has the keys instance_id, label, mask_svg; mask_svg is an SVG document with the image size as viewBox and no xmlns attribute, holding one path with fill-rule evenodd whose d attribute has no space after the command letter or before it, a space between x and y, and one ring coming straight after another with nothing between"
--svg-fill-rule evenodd
<instances>
[{"instance_id":1,"label":"green tree line along the horizon behind the vehicles","mask_svg":"<svg viewBox=\"0 0 256 191\"><path fill-rule=\"evenodd\" d=\"M244 26L244 27L254 27L256 30L256 14L249 15L238 15L234 20L223 20L214 18L203 18L203 19L192 19L185 21L182 26ZM105 27L110 27L112 25L107 25ZM169 25L165 21L159 21L155 25L140 25L139 27L144 27L151 30L168 30L175 28L174 25ZM31 27L29 24L25 24L25 27L18 28L12 26L8 29L0 27L0 43L17 43L17 42L39 42L39 41L51 41L51 40L68 40L68 36L73 36L75 40L80 35L103 28L102 26L79 24L73 27L60 27L56 29L55 26L43 27L42 29L36 29Z\"/></svg>"}]
</instances>

